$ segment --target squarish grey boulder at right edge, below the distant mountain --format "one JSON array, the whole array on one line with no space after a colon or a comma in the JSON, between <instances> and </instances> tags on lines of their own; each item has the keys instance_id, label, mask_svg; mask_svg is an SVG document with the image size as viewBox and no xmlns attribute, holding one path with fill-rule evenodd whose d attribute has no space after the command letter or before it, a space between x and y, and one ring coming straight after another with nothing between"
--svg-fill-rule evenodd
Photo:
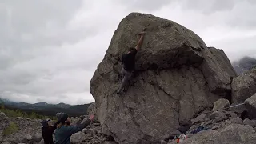
<instances>
[{"instance_id":1,"label":"squarish grey boulder at right edge, below the distant mountain","mask_svg":"<svg viewBox=\"0 0 256 144\"><path fill-rule=\"evenodd\" d=\"M232 82L232 103L244 102L256 93L256 69L233 79Z\"/></svg>"}]
</instances>

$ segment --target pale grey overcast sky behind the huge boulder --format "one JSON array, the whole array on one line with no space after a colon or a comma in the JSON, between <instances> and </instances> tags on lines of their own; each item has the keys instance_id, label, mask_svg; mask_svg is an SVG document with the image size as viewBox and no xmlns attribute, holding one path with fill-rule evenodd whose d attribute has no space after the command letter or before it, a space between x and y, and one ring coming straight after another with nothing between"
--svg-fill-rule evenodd
<instances>
[{"instance_id":1,"label":"pale grey overcast sky behind the huge boulder","mask_svg":"<svg viewBox=\"0 0 256 144\"><path fill-rule=\"evenodd\" d=\"M0 97L94 101L90 79L130 12L178 22L230 61L256 55L255 0L1 0Z\"/></svg>"}]
</instances>

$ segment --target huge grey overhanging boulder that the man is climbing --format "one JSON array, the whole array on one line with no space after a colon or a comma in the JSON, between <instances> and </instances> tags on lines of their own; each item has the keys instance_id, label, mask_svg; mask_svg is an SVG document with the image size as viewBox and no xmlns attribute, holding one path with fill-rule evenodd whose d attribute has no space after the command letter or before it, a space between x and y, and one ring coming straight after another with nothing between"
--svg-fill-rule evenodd
<instances>
[{"instance_id":1,"label":"huge grey overhanging boulder that the man is climbing","mask_svg":"<svg viewBox=\"0 0 256 144\"><path fill-rule=\"evenodd\" d=\"M121 83L122 54L136 46L136 74L126 94ZM178 134L194 114L230 98L233 67L222 50L208 48L185 27L150 14L132 13L115 30L103 61L90 82L105 134L119 143L154 142Z\"/></svg>"}]
</instances>

